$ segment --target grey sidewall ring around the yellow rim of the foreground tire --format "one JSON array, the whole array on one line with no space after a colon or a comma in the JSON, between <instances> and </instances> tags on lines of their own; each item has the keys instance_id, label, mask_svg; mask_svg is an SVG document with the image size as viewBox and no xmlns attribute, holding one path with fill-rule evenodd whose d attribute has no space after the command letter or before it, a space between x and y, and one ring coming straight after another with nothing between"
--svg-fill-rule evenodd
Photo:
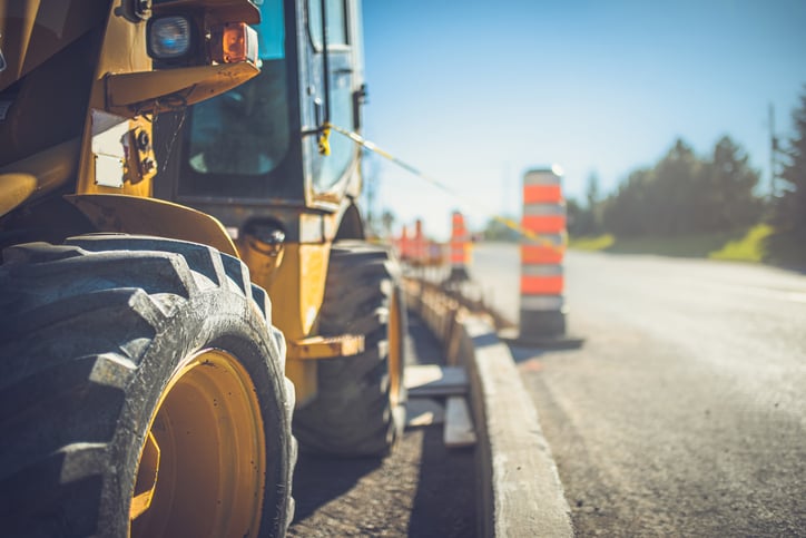
<instances>
[{"instance_id":1,"label":"grey sidewall ring around the yellow rim of the foreground tire","mask_svg":"<svg viewBox=\"0 0 806 538\"><path fill-rule=\"evenodd\" d=\"M237 358L248 373L263 417L267 462L259 535L282 534L288 517L285 496L292 480L287 464L292 448L289 434L278 431L289 431L291 424L283 399L279 350L266 323L246 296L215 288L191 296L157 331L127 388L110 454L110 461L119 462L120 467L108 475L114 482L104 488L101 521L117 521L119 532L111 534L127 536L140 450L169 380L186 358L203 350L222 350ZM100 529L105 528L112 527L101 525Z\"/></svg>"}]
</instances>

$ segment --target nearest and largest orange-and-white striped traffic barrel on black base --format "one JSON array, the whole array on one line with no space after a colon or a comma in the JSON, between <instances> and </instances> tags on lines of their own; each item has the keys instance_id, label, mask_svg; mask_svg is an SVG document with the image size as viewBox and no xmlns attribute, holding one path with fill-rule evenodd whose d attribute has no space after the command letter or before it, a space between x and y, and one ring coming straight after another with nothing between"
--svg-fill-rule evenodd
<instances>
[{"instance_id":1,"label":"nearest and largest orange-and-white striped traffic barrel on black base","mask_svg":"<svg viewBox=\"0 0 806 538\"><path fill-rule=\"evenodd\" d=\"M566 202L556 169L523 177L519 343L547 344L566 336L563 255Z\"/></svg>"}]
</instances>

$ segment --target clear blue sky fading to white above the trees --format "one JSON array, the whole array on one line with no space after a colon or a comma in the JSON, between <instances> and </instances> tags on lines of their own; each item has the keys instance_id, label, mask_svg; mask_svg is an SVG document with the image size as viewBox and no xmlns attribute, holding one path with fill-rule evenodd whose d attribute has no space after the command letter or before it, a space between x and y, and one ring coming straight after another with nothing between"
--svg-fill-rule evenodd
<instances>
[{"instance_id":1,"label":"clear blue sky fading to white above the trees","mask_svg":"<svg viewBox=\"0 0 806 538\"><path fill-rule=\"evenodd\" d=\"M768 182L776 130L806 85L806 1L364 0L364 135L462 198L376 158L375 211L444 236L520 214L525 169L559 164L567 196L607 193L677 137L730 135Z\"/></svg>"}]
</instances>

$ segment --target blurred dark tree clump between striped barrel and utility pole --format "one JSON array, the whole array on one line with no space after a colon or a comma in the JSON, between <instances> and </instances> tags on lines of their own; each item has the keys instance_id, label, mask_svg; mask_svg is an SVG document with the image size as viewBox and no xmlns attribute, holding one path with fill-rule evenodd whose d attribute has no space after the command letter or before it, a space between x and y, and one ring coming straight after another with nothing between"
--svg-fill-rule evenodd
<instances>
[{"instance_id":1,"label":"blurred dark tree clump between striped barrel and utility pole","mask_svg":"<svg viewBox=\"0 0 806 538\"><path fill-rule=\"evenodd\" d=\"M727 136L706 158L678 139L652 168L632 172L603 199L598 198L598 179L591 176L587 205L568 203L569 233L676 236L756 224L764 200L756 192L760 175L748 160Z\"/></svg>"}]
</instances>

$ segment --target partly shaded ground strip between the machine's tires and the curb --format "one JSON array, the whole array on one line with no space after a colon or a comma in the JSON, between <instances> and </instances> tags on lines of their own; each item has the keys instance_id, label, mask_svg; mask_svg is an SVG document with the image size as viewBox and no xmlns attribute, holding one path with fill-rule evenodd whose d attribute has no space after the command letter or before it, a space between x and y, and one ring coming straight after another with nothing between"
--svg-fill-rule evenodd
<instances>
[{"instance_id":1,"label":"partly shaded ground strip between the machine's tires and the curb","mask_svg":"<svg viewBox=\"0 0 806 538\"><path fill-rule=\"evenodd\" d=\"M409 314L406 364L444 363ZM411 401L411 400L410 400ZM299 454L292 537L476 536L474 449L446 449L443 425L406 428L387 458Z\"/></svg>"}]
</instances>

